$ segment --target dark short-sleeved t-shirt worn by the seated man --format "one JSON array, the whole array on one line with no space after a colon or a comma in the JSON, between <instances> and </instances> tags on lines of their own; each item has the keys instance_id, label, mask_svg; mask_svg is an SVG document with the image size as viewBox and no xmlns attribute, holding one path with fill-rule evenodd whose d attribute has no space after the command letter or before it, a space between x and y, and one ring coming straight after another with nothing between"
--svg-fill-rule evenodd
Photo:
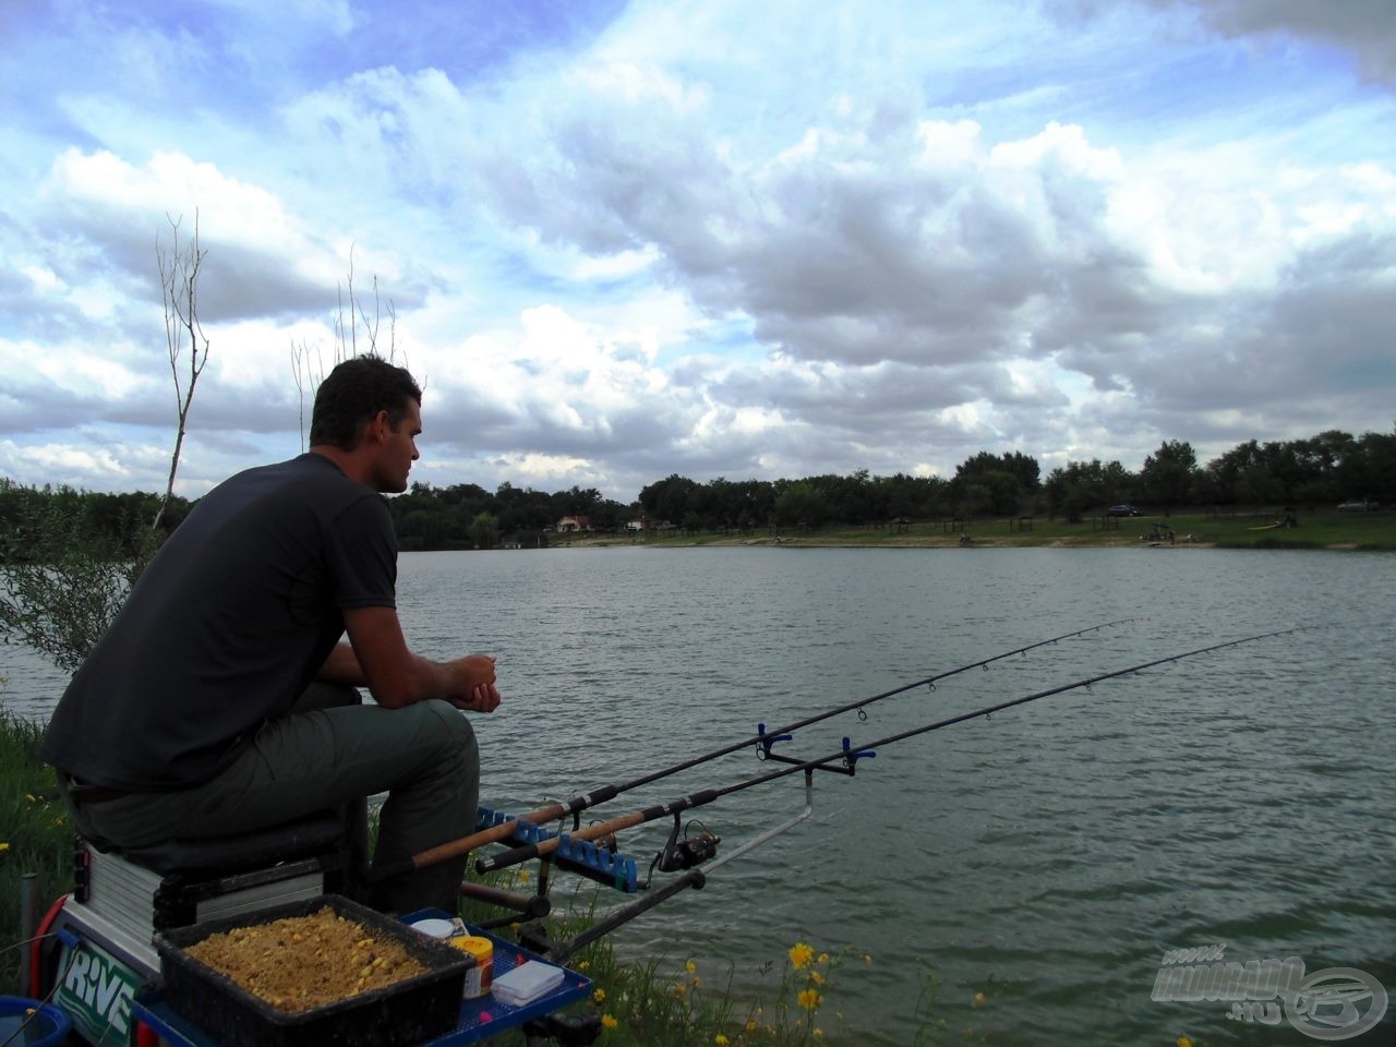
<instances>
[{"instance_id":1,"label":"dark short-sleeved t-shirt worn by the seated man","mask_svg":"<svg viewBox=\"0 0 1396 1047\"><path fill-rule=\"evenodd\" d=\"M343 635L392 607L384 500L317 454L250 469L194 507L53 712L40 755L84 783L198 785L290 709Z\"/></svg>"}]
</instances>

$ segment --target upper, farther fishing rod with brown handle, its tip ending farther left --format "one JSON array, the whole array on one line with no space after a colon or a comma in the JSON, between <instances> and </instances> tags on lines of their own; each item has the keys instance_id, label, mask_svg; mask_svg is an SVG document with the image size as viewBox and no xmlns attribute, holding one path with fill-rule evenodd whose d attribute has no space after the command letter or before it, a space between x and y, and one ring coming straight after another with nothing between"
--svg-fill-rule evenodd
<instances>
[{"instance_id":1,"label":"upper, farther fishing rod with brown handle, its tip ending farther left","mask_svg":"<svg viewBox=\"0 0 1396 1047\"><path fill-rule=\"evenodd\" d=\"M532 825L542 825L544 822L565 818L570 814L579 814L581 811L585 811L589 807L596 807L599 804L606 803L607 800L614 800L617 796L620 796L621 793L627 793L631 789L639 789L642 786L651 785L652 782L669 778L670 775L677 775L683 771L688 771L701 764L706 764L720 757L730 755L737 750L745 748L747 745L766 745L766 751L769 751L768 743L773 740L773 737L778 734L789 734L790 732L800 730L801 727L808 727L811 725L819 723L821 720L826 720L846 712L853 712L854 709L863 709L864 706L871 705L872 702L879 702L884 698L892 698L895 695L905 694L906 691L916 690L917 687L930 687L931 690L935 690L935 684L940 680L946 680L952 676L967 673L972 669L987 670L988 666L993 664L994 662L1002 662L1004 659L1013 658L1015 655L1026 655L1029 651L1034 651L1037 648L1047 646L1050 644L1057 644L1062 639L1074 639L1075 637L1083 637L1087 632L1099 632L1100 630L1111 628L1115 625L1125 625L1131 621L1138 621L1138 617L1117 618L1115 621L1104 621L1100 623L1099 625L1087 625L1086 628L1072 630L1071 632L1062 632L1060 637L1039 639L1033 644L1026 644L1020 648L1013 648L1012 651L1005 651L998 655L981 658L977 662L970 662L956 669L949 669L944 673L935 673L921 680L903 684L902 687L895 687L891 691L882 691L882 694L874 694L870 698L857 698L845 705L839 705L825 712L807 716L803 720L796 720L794 723L787 723L783 727L776 727L769 732L765 730L765 725L762 725L761 733L754 734L750 738L743 738L741 741L733 741L727 745L715 748L711 752L705 752L701 757L692 757L690 759L684 759L678 764L674 764L673 766L655 771L649 775L644 775L641 778L624 782L621 785L597 786L596 789L592 789L588 793L579 793L570 800L558 800L546 804L533 811L528 811L526 814L519 814L508 821L500 822L498 825L491 825L490 828L480 829L479 832L470 833L469 836L462 836L461 839L450 840L429 850L423 850L419 854L413 854L410 859L403 859L402 861L392 863L392 866L385 866L380 870L376 870L370 878L374 881L387 879L389 877L401 875L403 872L412 872L420 868L426 868L427 866L434 866L436 863L445 861L447 859L459 857L461 854L466 854L489 843L498 843L500 840L508 839L515 832L518 832L519 826L525 822Z\"/></svg>"}]
</instances>

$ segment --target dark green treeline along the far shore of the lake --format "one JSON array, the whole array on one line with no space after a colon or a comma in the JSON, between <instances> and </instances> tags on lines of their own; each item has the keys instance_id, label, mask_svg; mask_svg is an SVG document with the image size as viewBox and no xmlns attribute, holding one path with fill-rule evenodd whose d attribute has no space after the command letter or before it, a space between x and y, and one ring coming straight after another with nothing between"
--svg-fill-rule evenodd
<instances>
[{"instance_id":1,"label":"dark green treeline along the far shore of the lake","mask_svg":"<svg viewBox=\"0 0 1396 1047\"><path fill-rule=\"evenodd\" d=\"M1312 510L1354 500L1396 503L1396 431L1354 437L1329 430L1309 440L1251 440L1205 466L1198 465L1191 444L1167 440L1139 472L1118 461L1090 459L1068 462L1046 479L1030 455L981 451L949 479L871 476L866 469L850 476L705 483L671 475L642 489L628 505L592 487L547 494L511 483L493 493L473 483L415 483L388 505L402 549L424 550L549 544L558 539L564 517L585 518L586 528L602 533L621 532L638 519L688 530L752 530L1016 515L1081 519L1122 503L1161 514L1210 505ZM32 539L59 530L127 547L141 526L149 526L158 507L155 494L92 494L0 479L0 558L42 556ZM174 498L162 529L173 529L190 508L188 501ZM40 518L45 526L35 526Z\"/></svg>"}]
</instances>

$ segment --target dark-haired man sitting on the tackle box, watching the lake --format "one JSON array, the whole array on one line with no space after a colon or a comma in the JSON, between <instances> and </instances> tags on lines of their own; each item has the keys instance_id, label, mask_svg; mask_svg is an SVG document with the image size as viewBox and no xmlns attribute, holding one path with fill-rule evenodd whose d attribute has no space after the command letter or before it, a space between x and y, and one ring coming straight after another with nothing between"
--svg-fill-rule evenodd
<instances>
[{"instance_id":1,"label":"dark-haired man sitting on the tackle box, watching the lake","mask_svg":"<svg viewBox=\"0 0 1396 1047\"><path fill-rule=\"evenodd\" d=\"M406 370L346 360L315 394L307 454L198 501L49 723L40 755L84 836L226 836L383 790L376 867L473 832L479 752L461 709L498 706L494 659L413 655L396 613L381 494L406 490L420 433ZM376 704L357 704L360 685ZM454 913L465 861L391 878L374 900Z\"/></svg>"}]
</instances>

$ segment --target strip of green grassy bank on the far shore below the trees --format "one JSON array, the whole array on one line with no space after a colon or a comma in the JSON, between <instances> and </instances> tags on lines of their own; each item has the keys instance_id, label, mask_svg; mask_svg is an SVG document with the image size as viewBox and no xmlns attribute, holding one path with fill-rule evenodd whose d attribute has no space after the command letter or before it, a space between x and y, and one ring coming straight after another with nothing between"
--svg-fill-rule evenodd
<instances>
[{"instance_id":1,"label":"strip of green grassy bank on the far shore below the trees","mask_svg":"<svg viewBox=\"0 0 1396 1047\"><path fill-rule=\"evenodd\" d=\"M1272 526L1284 517L1283 510L1245 508L1220 512L1175 512L1171 515L1143 515L1124 519L1100 517L1069 524L1065 519L1033 518L1023 524L1018 518L972 519L965 530L973 547L1142 547L1152 544L1149 535L1154 522L1173 529L1173 549L1342 549L1396 550L1396 512L1336 512L1318 511L1297 514L1298 526ZM1160 544L1168 544L1167 533ZM1192 536L1192 542L1187 537ZM651 532L634 542L628 537L570 539L571 546L645 544L651 547L683 546L796 546L796 547L962 547L960 532L937 521L917 521L903 528L831 525L818 530L796 528L771 533L761 528L747 533Z\"/></svg>"}]
</instances>

